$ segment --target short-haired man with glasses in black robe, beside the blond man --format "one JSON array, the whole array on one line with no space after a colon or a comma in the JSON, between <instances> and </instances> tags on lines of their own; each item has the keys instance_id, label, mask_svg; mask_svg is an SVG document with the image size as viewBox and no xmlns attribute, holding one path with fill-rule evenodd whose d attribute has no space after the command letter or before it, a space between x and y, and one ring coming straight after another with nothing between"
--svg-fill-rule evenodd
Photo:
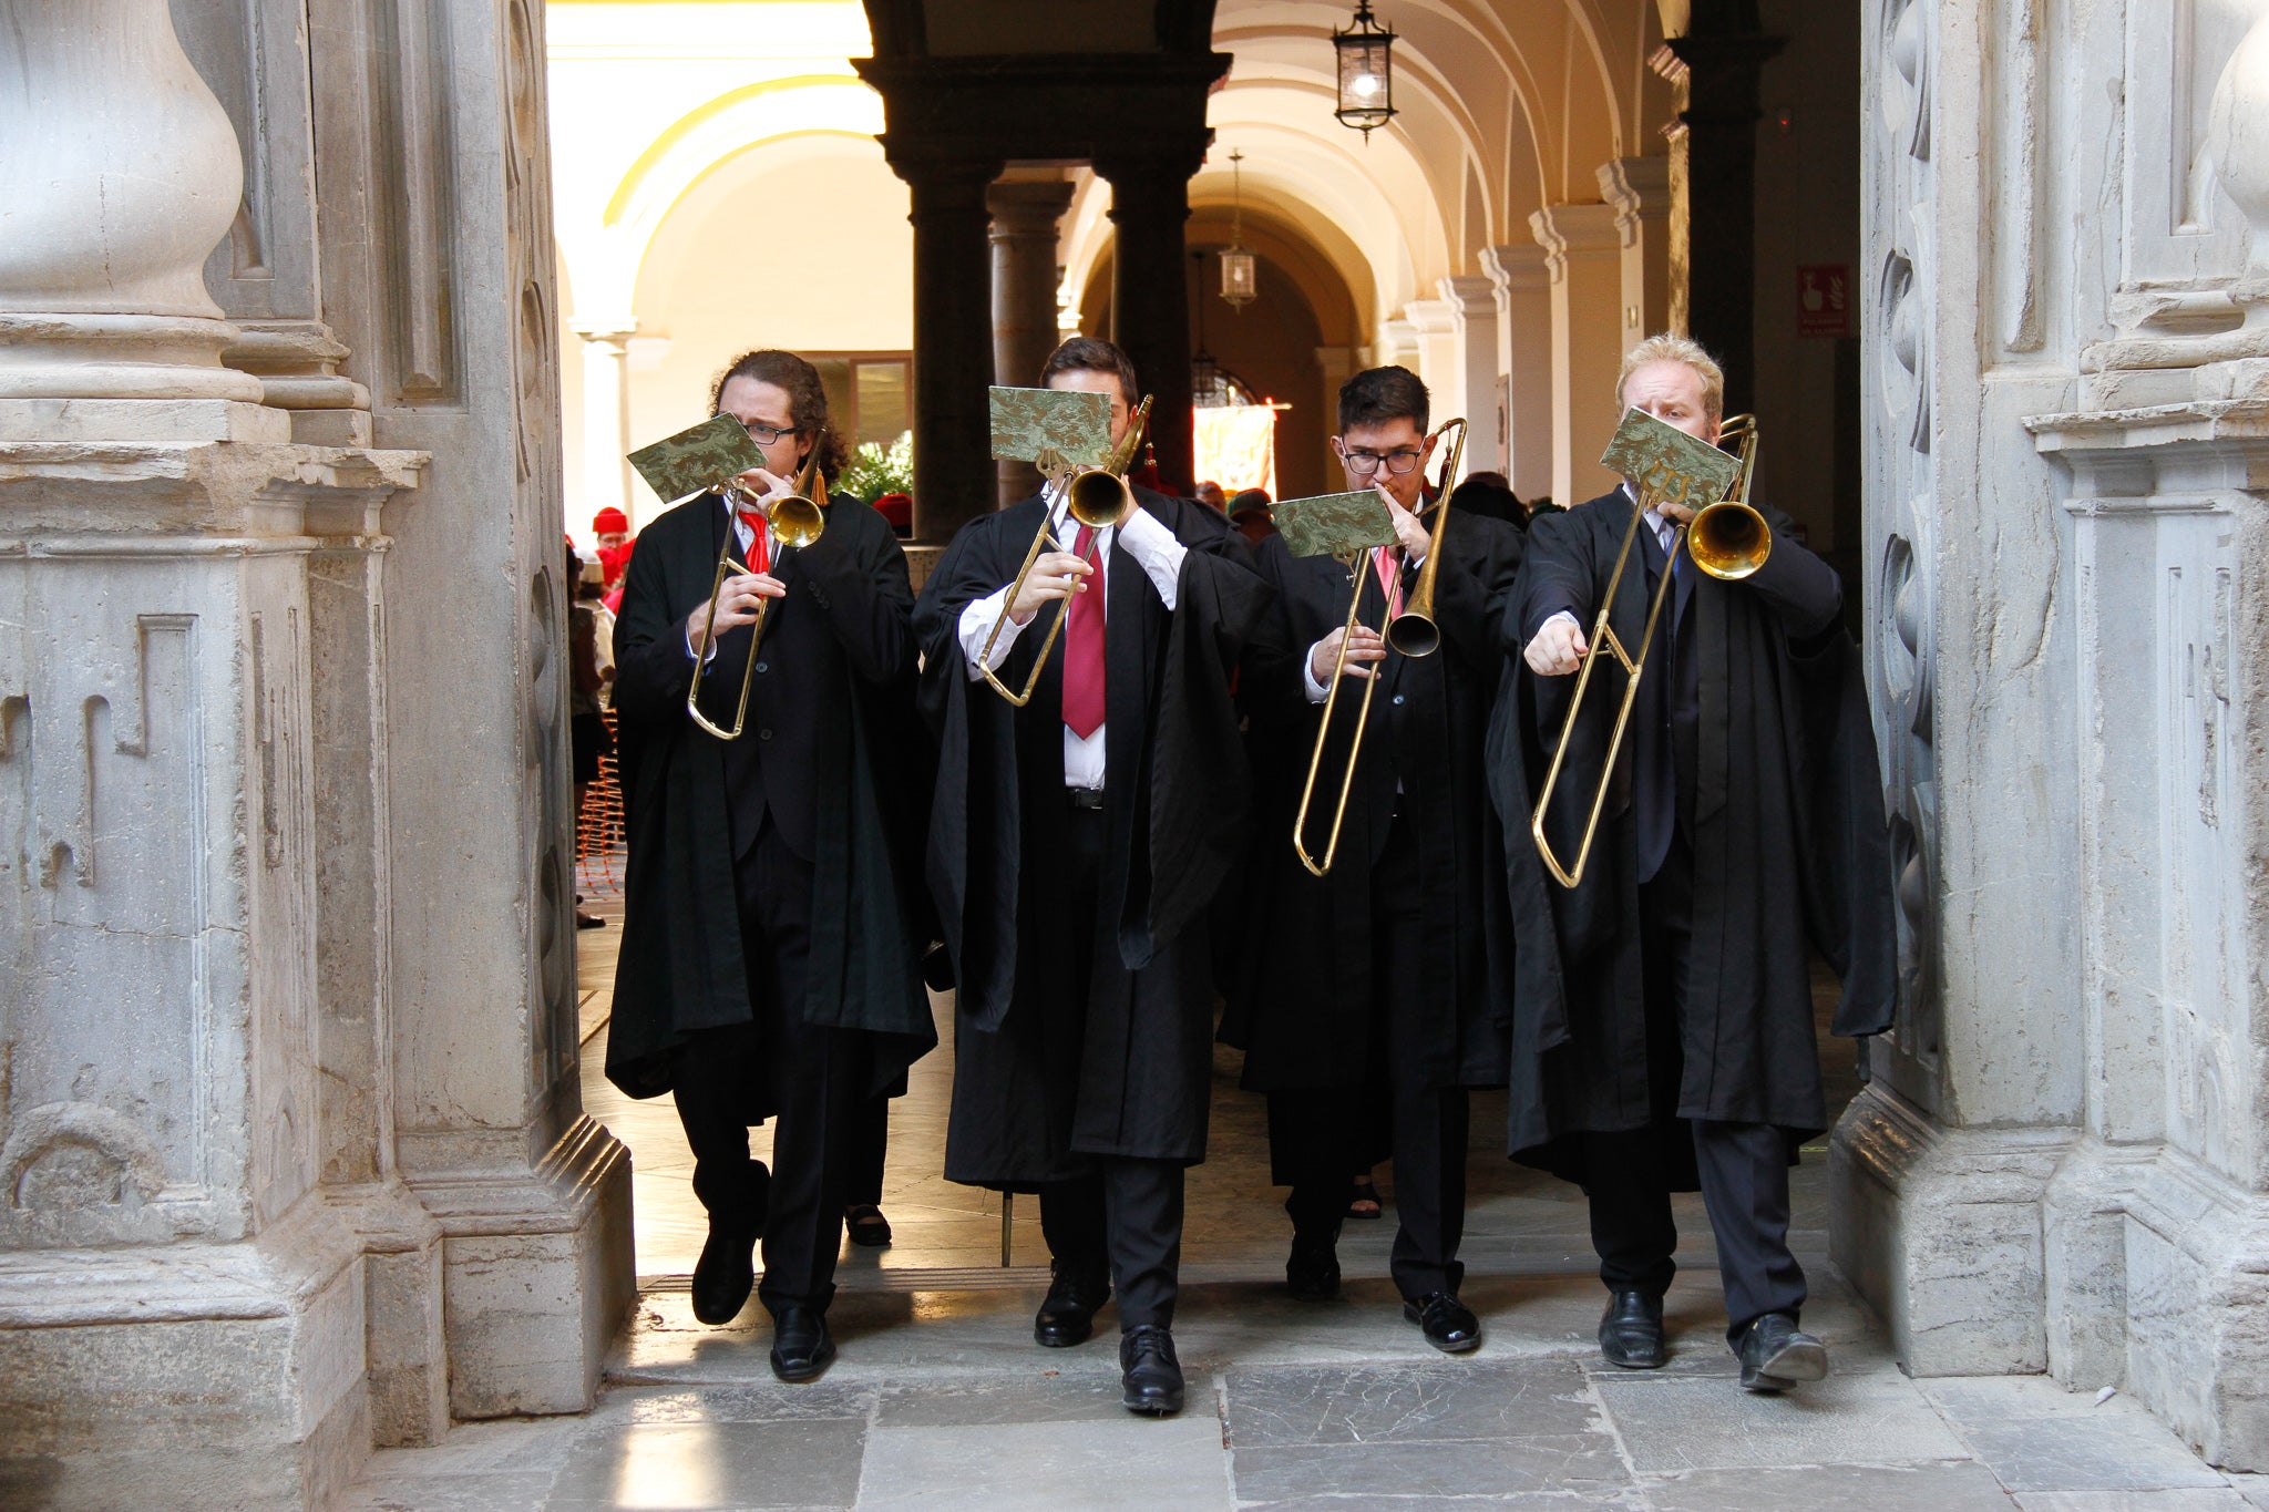
<instances>
[{"instance_id":1,"label":"short-haired man with glasses in black robe, beside the blond man","mask_svg":"<svg viewBox=\"0 0 2269 1512\"><path fill-rule=\"evenodd\" d=\"M1427 390L1405 367L1373 367L1339 390L1332 451L1350 490L1377 487L1398 544L1348 567L1330 555L1293 558L1282 537L1262 544L1277 587L1275 664L1248 660L1243 689L1262 771L1266 821L1255 875L1262 902L1246 1000L1223 1036L1246 1047L1243 1084L1268 1093L1268 1154L1293 1242L1284 1281L1293 1297L1339 1292L1339 1224L1348 1172L1366 1167L1386 1131L1395 1163L1393 1279L1405 1317L1425 1340L1464 1353L1482 1324L1457 1299L1466 1229L1466 1090L1502 1086L1509 1004L1500 970L1504 911L1502 836L1488 807L1482 746L1504 664L1504 608L1520 569L1520 533L1423 496L1439 438L1427 435ZM1380 630L1405 605L1443 524L1434 574L1441 646L1409 657ZM1361 610L1348 632L1348 596ZM1346 827L1325 877L1289 843L1325 698L1346 642L1346 676L1332 712L1305 843L1321 861L1332 836L1357 705L1380 678L1355 762Z\"/></svg>"}]
</instances>

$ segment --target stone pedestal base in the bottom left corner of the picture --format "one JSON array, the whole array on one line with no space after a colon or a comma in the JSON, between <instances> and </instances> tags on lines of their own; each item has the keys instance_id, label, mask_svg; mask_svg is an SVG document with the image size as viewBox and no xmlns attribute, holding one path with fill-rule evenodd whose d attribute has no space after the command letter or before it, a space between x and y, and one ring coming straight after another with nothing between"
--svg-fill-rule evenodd
<instances>
[{"instance_id":1,"label":"stone pedestal base in the bottom left corner of the picture","mask_svg":"<svg viewBox=\"0 0 2269 1512\"><path fill-rule=\"evenodd\" d=\"M331 1505L370 1451L359 1260L313 1195L259 1240L0 1256L0 1505Z\"/></svg>"}]
</instances>

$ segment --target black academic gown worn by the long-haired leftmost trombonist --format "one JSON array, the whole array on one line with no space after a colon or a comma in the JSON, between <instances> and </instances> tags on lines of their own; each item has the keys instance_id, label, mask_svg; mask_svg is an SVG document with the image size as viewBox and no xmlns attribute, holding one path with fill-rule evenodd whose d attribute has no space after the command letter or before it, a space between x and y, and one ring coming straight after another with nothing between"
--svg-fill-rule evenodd
<instances>
[{"instance_id":1,"label":"black academic gown worn by the long-haired leftmost trombonist","mask_svg":"<svg viewBox=\"0 0 2269 1512\"><path fill-rule=\"evenodd\" d=\"M685 714L685 617L717 571L726 515L715 494L638 537L615 623L615 714L629 830L622 957L606 1074L631 1097L669 1090L669 1050L694 1029L751 1022L733 891L728 748ZM737 553L735 553L737 555ZM930 768L914 719L912 587L899 537L837 494L824 535L783 553L762 671L733 762L762 759L767 798L796 793L781 832L812 861L803 1018L876 1036L887 1084L937 1043L919 959L930 938L919 855ZM728 630L701 703L731 728L751 632ZM778 739L767 730L778 725ZM808 734L808 741L792 739ZM801 750L796 771L778 759ZM747 823L747 821L744 821ZM808 839L805 839L808 836ZM753 1106L751 1118L769 1115Z\"/></svg>"}]
</instances>

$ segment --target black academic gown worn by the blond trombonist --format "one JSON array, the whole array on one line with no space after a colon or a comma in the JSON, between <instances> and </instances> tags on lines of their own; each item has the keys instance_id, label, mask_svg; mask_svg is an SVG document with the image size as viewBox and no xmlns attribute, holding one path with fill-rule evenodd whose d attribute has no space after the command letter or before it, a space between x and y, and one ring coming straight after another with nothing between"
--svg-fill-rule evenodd
<instances>
[{"instance_id":1,"label":"black academic gown worn by the blond trombonist","mask_svg":"<svg viewBox=\"0 0 2269 1512\"><path fill-rule=\"evenodd\" d=\"M1509 642L1525 644L1559 603L1577 605L1591 637L1634 508L1618 490L1529 524ZM1568 1179L1584 1172L1563 1136L1659 1122L1665 1081L1677 1088L1679 1118L1777 1124L1790 1149L1822 1131L1806 945L1842 979L1836 1034L1890 1027L1890 846L1858 646L1833 612L1797 628L1774 612L1795 596L1790 574L1806 562L1797 560L1804 546L1790 537L1788 517L1763 515L1774 549L1756 576L1722 583L1681 567L1672 589L1684 601L1677 630L1690 639L1697 698L1684 800L1693 943L1677 1068L1656 1065L1650 1077L1647 1065L1634 741L1618 757L1584 882L1563 889L1543 870L1529 816L1575 678L1538 678L1518 655L1507 662L1488 768L1518 929L1509 1145L1516 1158ZM1643 553L1647 569L1634 562L1625 571L1611 621L1634 648L1661 562L1645 528L1631 546L1634 558ZM1808 567L1817 569L1817 558ZM1656 676L1672 676L1663 657L1647 666L1647 680ZM1620 698L1622 671L1602 662L1568 732L1568 762L1545 818L1563 861L1575 859ZM1668 1154L1679 1149L1679 1186L1690 1188L1690 1140L1665 1143Z\"/></svg>"}]
</instances>

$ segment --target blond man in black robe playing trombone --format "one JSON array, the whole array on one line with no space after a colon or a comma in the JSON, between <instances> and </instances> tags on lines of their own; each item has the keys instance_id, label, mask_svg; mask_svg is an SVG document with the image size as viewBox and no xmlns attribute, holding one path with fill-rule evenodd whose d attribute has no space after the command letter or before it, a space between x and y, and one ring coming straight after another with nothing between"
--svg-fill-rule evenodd
<instances>
[{"instance_id":1,"label":"blond man in black robe playing trombone","mask_svg":"<svg viewBox=\"0 0 2269 1512\"><path fill-rule=\"evenodd\" d=\"M1618 392L1718 438L1724 379L1695 342L1640 342ZM1668 555L1693 510L1650 510L1616 592L1618 639L1640 644L1665 571L1670 603L1581 884L1547 882L1527 834L1532 793L1634 508L1618 490L1532 521L1509 626L1525 653L1500 691L1488 759L1520 927L1511 1149L1588 1192L1609 1288L1600 1349L1631 1369L1663 1362L1670 1192L1699 1186L1740 1383L1774 1392L1827 1371L1820 1340L1797 1326L1804 1269L1788 1251L1788 1167L1829 1122L1806 943L1842 977L1838 1034L1879 1034L1892 1011L1874 728L1842 587L1788 517L1763 510L1768 560L1720 580L1684 546ZM1620 666L1593 680L1545 812L1566 866L1625 682Z\"/></svg>"}]
</instances>

